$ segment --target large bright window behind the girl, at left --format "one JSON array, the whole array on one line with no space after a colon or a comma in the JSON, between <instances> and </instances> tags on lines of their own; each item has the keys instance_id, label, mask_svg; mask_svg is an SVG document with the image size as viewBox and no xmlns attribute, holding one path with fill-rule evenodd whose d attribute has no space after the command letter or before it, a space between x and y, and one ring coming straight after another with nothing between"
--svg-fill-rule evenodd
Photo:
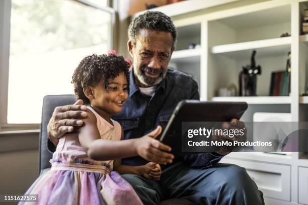
<instances>
[{"instance_id":1,"label":"large bright window behind the girl, at left","mask_svg":"<svg viewBox=\"0 0 308 205\"><path fill-rule=\"evenodd\" d=\"M70 81L79 62L111 47L114 12L102 5L107 1L11 0L7 116L2 121L40 123L45 95L73 94Z\"/></svg>"}]
</instances>

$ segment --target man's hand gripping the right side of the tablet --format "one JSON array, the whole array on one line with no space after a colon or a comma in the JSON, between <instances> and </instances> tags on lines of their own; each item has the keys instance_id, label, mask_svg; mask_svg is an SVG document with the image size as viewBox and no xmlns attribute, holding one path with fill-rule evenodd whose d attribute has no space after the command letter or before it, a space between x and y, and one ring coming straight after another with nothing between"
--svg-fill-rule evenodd
<instances>
[{"instance_id":1,"label":"man's hand gripping the right side of the tablet","mask_svg":"<svg viewBox=\"0 0 308 205\"><path fill-rule=\"evenodd\" d=\"M219 136L213 136L212 140L217 140L219 142L222 141L239 141L239 142L245 142L247 137L247 130L245 128L245 124L243 121L239 121L237 119L232 119L230 123L222 123L222 129L227 130L244 130L244 135L235 135L234 137L229 137L225 135L219 135ZM217 153L220 155L226 155L232 151L233 146L224 146L222 147L222 150L219 150Z\"/></svg>"}]
</instances>

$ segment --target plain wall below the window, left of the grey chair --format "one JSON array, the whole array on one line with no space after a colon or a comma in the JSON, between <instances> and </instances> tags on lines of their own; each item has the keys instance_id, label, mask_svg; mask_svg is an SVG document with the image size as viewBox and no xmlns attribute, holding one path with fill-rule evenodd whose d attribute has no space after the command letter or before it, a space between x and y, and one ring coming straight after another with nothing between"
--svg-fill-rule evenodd
<instances>
[{"instance_id":1,"label":"plain wall below the window, left of the grey chair","mask_svg":"<svg viewBox=\"0 0 308 205\"><path fill-rule=\"evenodd\" d=\"M0 134L0 194L23 194L39 174L39 135Z\"/></svg>"}]
</instances>

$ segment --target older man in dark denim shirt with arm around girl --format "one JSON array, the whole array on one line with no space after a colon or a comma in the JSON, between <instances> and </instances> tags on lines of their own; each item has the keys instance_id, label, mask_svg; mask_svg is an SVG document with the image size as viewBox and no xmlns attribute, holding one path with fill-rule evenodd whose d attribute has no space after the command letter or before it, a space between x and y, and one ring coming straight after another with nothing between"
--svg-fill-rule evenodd
<instances>
[{"instance_id":1,"label":"older man in dark denim shirt with arm around girl","mask_svg":"<svg viewBox=\"0 0 308 205\"><path fill-rule=\"evenodd\" d=\"M177 40L176 28L168 16L146 12L133 20L128 35L128 49L133 58L129 97L121 113L113 116L123 127L124 139L141 137L158 125L165 128L180 100L199 99L195 80L182 72L167 69ZM78 122L79 126L82 124L81 120L68 119L84 117L80 107L66 106L54 112L48 126L49 138L54 144L63 133L71 132L72 126L77 126ZM243 126L241 121L233 124ZM144 204L181 197L198 204L261 204L258 188L244 168L217 164L227 153L175 158L173 164L165 167L159 181L134 174L123 177ZM122 162L127 165L146 163L141 157L123 159Z\"/></svg>"}]
</instances>

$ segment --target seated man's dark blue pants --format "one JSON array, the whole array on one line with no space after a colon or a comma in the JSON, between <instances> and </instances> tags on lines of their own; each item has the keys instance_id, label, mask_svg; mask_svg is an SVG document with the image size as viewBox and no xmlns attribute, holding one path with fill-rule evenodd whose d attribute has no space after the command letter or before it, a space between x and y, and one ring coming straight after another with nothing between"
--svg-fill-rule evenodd
<instances>
[{"instance_id":1,"label":"seated man's dark blue pants","mask_svg":"<svg viewBox=\"0 0 308 205\"><path fill-rule=\"evenodd\" d=\"M122 176L146 205L168 198L186 198L197 204L262 204L255 182L234 164L195 169L179 162L165 169L159 181L135 174Z\"/></svg>"}]
</instances>

